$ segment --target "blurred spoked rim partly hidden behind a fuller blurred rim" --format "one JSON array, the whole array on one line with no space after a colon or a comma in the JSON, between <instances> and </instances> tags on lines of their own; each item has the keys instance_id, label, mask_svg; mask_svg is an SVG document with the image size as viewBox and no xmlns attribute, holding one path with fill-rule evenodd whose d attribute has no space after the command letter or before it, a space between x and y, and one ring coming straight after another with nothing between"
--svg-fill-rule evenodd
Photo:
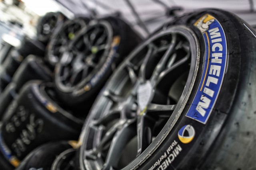
<instances>
[{"instance_id":1,"label":"blurred spoked rim partly hidden behind a fuller blurred rim","mask_svg":"<svg viewBox=\"0 0 256 170\"><path fill-rule=\"evenodd\" d=\"M51 40L48 49L48 60L52 65L58 63L59 58L63 55L68 43L74 39L75 35L85 26L84 20L67 21L66 24L58 31L56 36Z\"/></svg>"}]
</instances>

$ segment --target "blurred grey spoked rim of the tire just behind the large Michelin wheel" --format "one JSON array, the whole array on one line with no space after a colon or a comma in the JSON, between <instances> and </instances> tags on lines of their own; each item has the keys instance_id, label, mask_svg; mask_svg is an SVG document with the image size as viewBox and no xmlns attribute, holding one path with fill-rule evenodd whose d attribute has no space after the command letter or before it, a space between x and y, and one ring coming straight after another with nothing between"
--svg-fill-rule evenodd
<instances>
[{"instance_id":1,"label":"blurred grey spoked rim of the tire just behind the large Michelin wheel","mask_svg":"<svg viewBox=\"0 0 256 170\"><path fill-rule=\"evenodd\" d=\"M57 64L56 86L63 92L84 86L106 62L112 36L112 27L106 21L81 30Z\"/></svg>"}]
</instances>

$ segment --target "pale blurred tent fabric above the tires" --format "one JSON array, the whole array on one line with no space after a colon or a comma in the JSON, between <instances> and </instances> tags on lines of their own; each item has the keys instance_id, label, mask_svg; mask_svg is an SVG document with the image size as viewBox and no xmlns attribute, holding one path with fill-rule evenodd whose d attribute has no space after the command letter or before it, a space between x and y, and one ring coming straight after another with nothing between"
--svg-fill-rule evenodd
<instances>
[{"instance_id":1,"label":"pale blurred tent fabric above the tires","mask_svg":"<svg viewBox=\"0 0 256 170\"><path fill-rule=\"evenodd\" d=\"M136 30L146 36L146 32L138 25L136 17L126 3L126 0L56 0L75 16L88 16L88 9L96 11L99 16L111 15L120 12L122 17L129 21ZM256 0L161 0L167 7L182 7L178 12L182 15L200 8L220 8L228 10L240 16L250 25L256 25ZM165 21L171 20L165 16L166 6L156 3L154 0L130 0L139 16L145 21L149 31L154 31ZM155 19L153 19L155 18Z\"/></svg>"}]
</instances>

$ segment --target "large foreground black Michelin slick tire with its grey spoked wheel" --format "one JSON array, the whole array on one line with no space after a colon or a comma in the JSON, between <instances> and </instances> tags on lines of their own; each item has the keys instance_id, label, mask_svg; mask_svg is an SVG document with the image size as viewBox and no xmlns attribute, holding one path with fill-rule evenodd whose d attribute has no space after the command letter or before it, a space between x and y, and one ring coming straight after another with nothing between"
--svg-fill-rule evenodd
<instances>
[{"instance_id":1,"label":"large foreground black Michelin slick tire with its grey spoked wheel","mask_svg":"<svg viewBox=\"0 0 256 170\"><path fill-rule=\"evenodd\" d=\"M80 169L256 169L255 75L248 23L216 9L175 18L98 95L80 138Z\"/></svg>"}]
</instances>

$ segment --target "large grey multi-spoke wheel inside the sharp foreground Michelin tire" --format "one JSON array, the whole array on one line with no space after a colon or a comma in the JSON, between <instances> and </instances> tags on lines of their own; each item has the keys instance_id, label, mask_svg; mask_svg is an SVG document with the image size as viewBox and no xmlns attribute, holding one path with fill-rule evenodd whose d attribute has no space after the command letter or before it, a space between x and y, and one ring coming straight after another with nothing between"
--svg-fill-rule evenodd
<instances>
[{"instance_id":1,"label":"large grey multi-spoke wheel inside the sharp foreground Michelin tire","mask_svg":"<svg viewBox=\"0 0 256 170\"><path fill-rule=\"evenodd\" d=\"M82 170L136 169L164 141L190 96L199 67L196 35L172 26L121 64L98 96L80 142Z\"/></svg>"}]
</instances>

